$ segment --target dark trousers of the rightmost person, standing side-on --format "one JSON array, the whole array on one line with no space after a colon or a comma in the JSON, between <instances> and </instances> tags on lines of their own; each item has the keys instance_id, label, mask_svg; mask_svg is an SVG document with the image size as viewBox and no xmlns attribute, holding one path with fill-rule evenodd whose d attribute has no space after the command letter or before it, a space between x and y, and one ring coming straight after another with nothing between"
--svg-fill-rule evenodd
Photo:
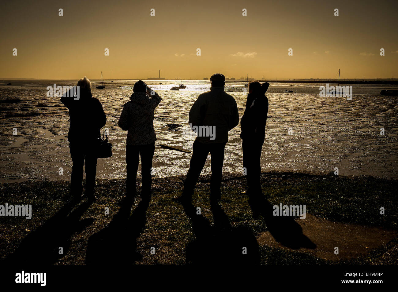
<instances>
[{"instance_id":1,"label":"dark trousers of the rightmost person, standing side-on","mask_svg":"<svg viewBox=\"0 0 398 292\"><path fill-rule=\"evenodd\" d=\"M248 192L252 194L261 193L261 149L263 141L242 140L243 167L246 168L246 179Z\"/></svg>"}]
</instances>

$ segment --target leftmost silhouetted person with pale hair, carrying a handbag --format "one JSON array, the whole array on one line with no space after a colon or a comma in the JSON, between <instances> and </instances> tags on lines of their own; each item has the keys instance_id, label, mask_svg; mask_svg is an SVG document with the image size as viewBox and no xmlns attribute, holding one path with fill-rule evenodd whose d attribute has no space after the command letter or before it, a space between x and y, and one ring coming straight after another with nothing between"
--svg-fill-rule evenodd
<instances>
[{"instance_id":1,"label":"leftmost silhouetted person with pale hair, carrying a handbag","mask_svg":"<svg viewBox=\"0 0 398 292\"><path fill-rule=\"evenodd\" d=\"M86 195L95 201L97 155L96 143L101 138L100 128L106 124L106 114L101 102L91 94L91 83L86 77L77 83L77 97L71 89L61 97L61 102L69 109L70 126L68 133L72 174L70 188L74 199L80 199L83 193L83 165L86 170ZM76 88L76 87L75 87ZM76 92L75 92L76 93Z\"/></svg>"}]
</instances>

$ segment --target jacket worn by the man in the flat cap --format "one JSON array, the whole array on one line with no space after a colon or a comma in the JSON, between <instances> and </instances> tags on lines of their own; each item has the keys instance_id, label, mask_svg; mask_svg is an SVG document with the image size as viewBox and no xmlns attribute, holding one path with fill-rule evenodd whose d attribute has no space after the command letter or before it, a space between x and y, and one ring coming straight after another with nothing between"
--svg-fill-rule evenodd
<instances>
[{"instance_id":1,"label":"jacket worn by the man in the flat cap","mask_svg":"<svg viewBox=\"0 0 398 292\"><path fill-rule=\"evenodd\" d=\"M224 91L223 86L211 87L210 91L199 95L189 111L189 126L193 131L196 130L197 133L199 130L205 134L207 129L212 129L213 137L200 136L197 133L196 140L202 143L227 143L228 131L238 124L238 106L235 99Z\"/></svg>"}]
</instances>

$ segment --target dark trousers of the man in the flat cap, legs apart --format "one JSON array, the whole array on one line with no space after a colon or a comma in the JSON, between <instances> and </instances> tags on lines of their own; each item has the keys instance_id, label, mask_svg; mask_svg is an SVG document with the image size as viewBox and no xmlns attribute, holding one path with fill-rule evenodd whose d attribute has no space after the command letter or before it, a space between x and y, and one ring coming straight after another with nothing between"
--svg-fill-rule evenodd
<instances>
[{"instance_id":1,"label":"dark trousers of the man in the flat cap, legs apart","mask_svg":"<svg viewBox=\"0 0 398 292\"><path fill-rule=\"evenodd\" d=\"M200 173L205 166L207 155L211 155L211 180L210 180L210 199L220 199L222 164L224 163L224 149L226 143L201 143L197 140L193 142L192 157L189 163L189 170L184 184L183 196L192 198L193 189L199 179Z\"/></svg>"}]
</instances>

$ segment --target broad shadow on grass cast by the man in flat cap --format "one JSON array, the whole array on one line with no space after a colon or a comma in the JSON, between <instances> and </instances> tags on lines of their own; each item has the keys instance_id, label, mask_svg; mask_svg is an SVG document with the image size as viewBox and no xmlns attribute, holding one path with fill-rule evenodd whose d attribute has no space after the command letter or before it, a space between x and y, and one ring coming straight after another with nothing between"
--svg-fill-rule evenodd
<instances>
[{"instance_id":1,"label":"broad shadow on grass cast by the man in flat cap","mask_svg":"<svg viewBox=\"0 0 398 292\"><path fill-rule=\"evenodd\" d=\"M187 244L186 262L197 265L258 265L259 246L253 232L244 226L232 227L219 205L212 205L214 226L193 205L184 206L191 219L196 240Z\"/></svg>"}]
</instances>

